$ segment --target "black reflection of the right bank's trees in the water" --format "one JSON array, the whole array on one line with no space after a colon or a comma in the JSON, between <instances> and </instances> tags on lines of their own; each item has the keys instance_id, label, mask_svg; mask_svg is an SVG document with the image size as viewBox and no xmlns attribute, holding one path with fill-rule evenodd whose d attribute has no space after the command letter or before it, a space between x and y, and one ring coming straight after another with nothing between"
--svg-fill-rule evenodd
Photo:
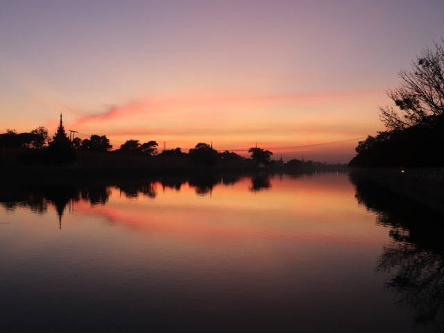
<instances>
[{"instance_id":1,"label":"black reflection of the right bank's trees in the water","mask_svg":"<svg viewBox=\"0 0 444 333\"><path fill-rule=\"evenodd\" d=\"M377 214L390 228L393 243L385 246L376 271L395 272L387 287L398 293L400 305L413 309L416 323L444 329L443 216L377 182L350 174L358 203Z\"/></svg>"}]
</instances>

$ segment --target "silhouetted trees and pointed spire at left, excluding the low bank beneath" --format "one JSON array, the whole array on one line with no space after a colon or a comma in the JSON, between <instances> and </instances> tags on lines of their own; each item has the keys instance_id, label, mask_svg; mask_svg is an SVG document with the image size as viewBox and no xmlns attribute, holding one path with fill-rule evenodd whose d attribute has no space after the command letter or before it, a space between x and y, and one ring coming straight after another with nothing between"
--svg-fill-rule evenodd
<instances>
[{"instance_id":1,"label":"silhouetted trees and pointed spire at left, excluding the low bank beneath","mask_svg":"<svg viewBox=\"0 0 444 333\"><path fill-rule=\"evenodd\" d=\"M3 148L22 148L20 155L22 162L66 164L75 162L76 152L88 151L94 153L109 153L121 155L139 155L147 157L177 157L188 158L194 164L203 164L208 167L218 162L246 161L243 157L233 151L218 152L209 144L199 142L194 148L189 149L188 153L182 152L180 147L174 149L165 149L158 151L159 144L153 140L141 143L137 139L129 139L114 151L112 144L106 135L91 135L87 139L74 137L69 139L65 133L60 121L58 131L53 137L49 137L48 130L42 126L37 127L30 133L17 133L15 130L6 130L6 133L0 133L0 147ZM250 148L250 160L253 160L260 167L268 167L271 160L271 151L262 148Z\"/></svg>"}]
</instances>

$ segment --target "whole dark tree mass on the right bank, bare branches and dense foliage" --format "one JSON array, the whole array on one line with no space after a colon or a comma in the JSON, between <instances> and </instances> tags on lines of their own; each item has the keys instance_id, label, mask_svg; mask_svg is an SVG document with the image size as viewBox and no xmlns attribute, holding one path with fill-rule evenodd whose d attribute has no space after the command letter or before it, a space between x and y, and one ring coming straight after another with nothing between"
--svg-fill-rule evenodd
<instances>
[{"instance_id":1,"label":"whole dark tree mass on the right bank, bare branches and dense foliage","mask_svg":"<svg viewBox=\"0 0 444 333\"><path fill-rule=\"evenodd\" d=\"M444 41L443 41L444 44ZM444 46L434 44L399 72L399 87L379 108L387 130L359 142L352 167L444 167Z\"/></svg>"}]
</instances>

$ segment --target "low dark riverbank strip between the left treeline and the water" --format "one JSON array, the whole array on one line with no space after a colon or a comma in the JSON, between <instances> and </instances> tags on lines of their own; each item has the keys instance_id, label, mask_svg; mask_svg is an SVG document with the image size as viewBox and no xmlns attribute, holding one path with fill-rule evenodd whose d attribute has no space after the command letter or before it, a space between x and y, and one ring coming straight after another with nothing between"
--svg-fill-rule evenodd
<instances>
[{"instance_id":1,"label":"low dark riverbank strip between the left treeline and the water","mask_svg":"<svg viewBox=\"0 0 444 333\"><path fill-rule=\"evenodd\" d=\"M316 171L345 171L343 165L313 164L289 167L282 161L258 166L253 160L228 160L220 158L212 165L191 160L189 156L122 155L117 153L94 153L76 151L75 160L57 164L42 160L43 155L32 154L23 149L0 149L1 180L32 180L35 178L122 178L146 176L175 176L207 173L254 173ZM32 157L32 158L31 158ZM35 158L34 158L35 157Z\"/></svg>"}]
</instances>

